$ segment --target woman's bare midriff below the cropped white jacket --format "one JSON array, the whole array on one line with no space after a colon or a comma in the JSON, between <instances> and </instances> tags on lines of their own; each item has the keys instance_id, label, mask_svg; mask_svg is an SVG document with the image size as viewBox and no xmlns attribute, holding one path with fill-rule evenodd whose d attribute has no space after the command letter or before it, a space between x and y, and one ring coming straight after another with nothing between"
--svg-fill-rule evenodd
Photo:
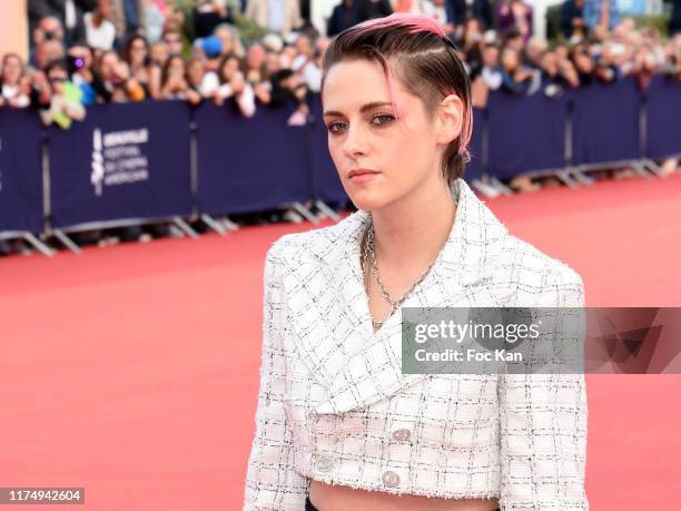
<instances>
[{"instance_id":1,"label":"woman's bare midriff below the cropped white jacket","mask_svg":"<svg viewBox=\"0 0 681 511\"><path fill-rule=\"evenodd\" d=\"M313 480L309 500L319 511L494 511L499 499L443 499L357 490Z\"/></svg>"}]
</instances>

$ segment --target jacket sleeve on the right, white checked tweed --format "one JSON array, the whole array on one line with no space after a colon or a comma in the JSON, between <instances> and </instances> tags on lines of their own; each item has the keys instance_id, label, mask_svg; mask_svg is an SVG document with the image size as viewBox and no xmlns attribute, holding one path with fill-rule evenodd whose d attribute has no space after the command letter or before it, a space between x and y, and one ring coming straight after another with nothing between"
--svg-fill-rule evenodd
<instances>
[{"instance_id":1,"label":"jacket sleeve on the right, white checked tweed","mask_svg":"<svg viewBox=\"0 0 681 511\"><path fill-rule=\"evenodd\" d=\"M580 307L581 311L584 286L579 274L569 269L553 274L551 281L546 289L550 298L541 305L560 307L559 317L570 313L565 308ZM565 322L564 316L561 322ZM583 321L578 320L574 324L575 332L583 338ZM501 509L588 510L584 375L502 374L497 394Z\"/></svg>"}]
</instances>

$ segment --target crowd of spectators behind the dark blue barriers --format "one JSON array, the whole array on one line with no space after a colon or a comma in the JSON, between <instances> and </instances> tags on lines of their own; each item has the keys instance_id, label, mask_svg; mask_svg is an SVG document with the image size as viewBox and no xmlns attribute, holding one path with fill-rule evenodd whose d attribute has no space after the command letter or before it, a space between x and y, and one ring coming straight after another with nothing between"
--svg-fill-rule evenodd
<instances>
[{"instance_id":1,"label":"crowd of spectators behind the dark blue barriers","mask_svg":"<svg viewBox=\"0 0 681 511\"><path fill-rule=\"evenodd\" d=\"M309 0L28 0L30 56L2 56L0 106L34 108L65 129L88 105L169 99L230 102L244 117L290 105L288 122L303 125L330 38L392 12L442 24L470 75L474 106L497 89L556 96L628 76L645 88L654 73L681 81L681 0L672 2L662 35L638 28L616 0L566 0L560 37L544 41L533 37L525 0L340 0L323 26L310 20ZM261 36L246 38L244 23ZM552 184L520 177L512 186Z\"/></svg>"}]
</instances>

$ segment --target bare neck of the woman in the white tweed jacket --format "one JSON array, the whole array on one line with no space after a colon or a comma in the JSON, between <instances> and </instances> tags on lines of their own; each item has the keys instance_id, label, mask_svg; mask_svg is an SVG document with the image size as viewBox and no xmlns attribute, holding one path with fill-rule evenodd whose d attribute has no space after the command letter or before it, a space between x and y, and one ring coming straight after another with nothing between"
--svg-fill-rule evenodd
<instances>
[{"instance_id":1,"label":"bare neck of the woman in the white tweed jacket","mask_svg":"<svg viewBox=\"0 0 681 511\"><path fill-rule=\"evenodd\" d=\"M456 206L450 187L438 179L373 212L376 259L394 268L427 266L452 230Z\"/></svg>"}]
</instances>

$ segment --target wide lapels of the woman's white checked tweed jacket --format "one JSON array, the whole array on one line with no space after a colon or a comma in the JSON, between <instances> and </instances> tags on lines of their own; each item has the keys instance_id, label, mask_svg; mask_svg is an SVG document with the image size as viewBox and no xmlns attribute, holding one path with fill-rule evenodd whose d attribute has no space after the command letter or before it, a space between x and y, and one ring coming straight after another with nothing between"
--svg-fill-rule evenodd
<instances>
[{"instance_id":1,"label":"wide lapels of the woman's white checked tweed jacket","mask_svg":"<svg viewBox=\"0 0 681 511\"><path fill-rule=\"evenodd\" d=\"M488 306L472 303L471 287L491 278L506 227L463 179L453 186L454 225L428 275L404 307ZM369 214L358 210L322 229L309 247L315 256L286 283L299 355L327 389L317 413L343 413L389 397L422 380L402 373L402 312L373 332L359 265L361 239ZM315 261L317 259L317 261ZM293 287L292 287L293 286ZM319 321L319 318L324 321Z\"/></svg>"}]
</instances>

